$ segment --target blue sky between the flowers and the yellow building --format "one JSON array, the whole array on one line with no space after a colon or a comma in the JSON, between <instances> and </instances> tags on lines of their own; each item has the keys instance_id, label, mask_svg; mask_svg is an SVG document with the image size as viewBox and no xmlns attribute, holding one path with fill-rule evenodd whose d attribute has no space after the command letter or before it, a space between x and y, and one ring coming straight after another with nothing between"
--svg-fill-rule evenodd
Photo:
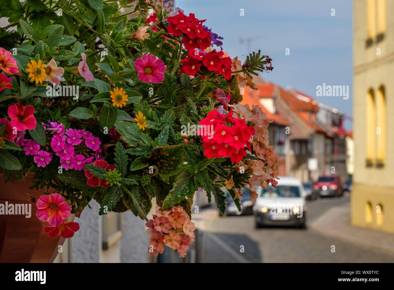
<instances>
[{"instance_id":1,"label":"blue sky between the flowers and the yellow building","mask_svg":"<svg viewBox=\"0 0 394 290\"><path fill-rule=\"evenodd\" d=\"M204 24L224 37L223 50L242 62L249 51L240 39L253 38L251 50L261 49L273 60L273 71L261 74L265 80L292 86L353 116L353 1L175 0L175 6L207 19ZM317 97L316 86L323 83L348 85L349 99Z\"/></svg>"}]
</instances>

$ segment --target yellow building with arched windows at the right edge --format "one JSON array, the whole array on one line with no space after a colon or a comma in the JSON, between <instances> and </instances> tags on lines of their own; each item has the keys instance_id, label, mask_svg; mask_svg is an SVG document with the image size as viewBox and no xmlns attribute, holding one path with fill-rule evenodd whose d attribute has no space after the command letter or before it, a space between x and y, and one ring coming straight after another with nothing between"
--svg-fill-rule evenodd
<instances>
[{"instance_id":1,"label":"yellow building with arched windows at the right edge","mask_svg":"<svg viewBox=\"0 0 394 290\"><path fill-rule=\"evenodd\" d=\"M353 3L351 223L394 232L394 1Z\"/></svg>"}]
</instances>

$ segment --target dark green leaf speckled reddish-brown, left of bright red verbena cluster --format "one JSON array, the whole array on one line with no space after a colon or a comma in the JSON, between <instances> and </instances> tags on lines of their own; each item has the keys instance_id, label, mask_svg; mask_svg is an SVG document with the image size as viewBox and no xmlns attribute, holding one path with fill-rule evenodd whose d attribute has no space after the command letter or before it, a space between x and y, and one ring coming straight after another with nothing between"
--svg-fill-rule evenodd
<instances>
[{"instance_id":1,"label":"dark green leaf speckled reddish-brown, left of bright red verbena cluster","mask_svg":"<svg viewBox=\"0 0 394 290\"><path fill-rule=\"evenodd\" d=\"M158 172L164 176L178 173L178 165L183 163L184 144L173 146L158 146L153 148L150 164L156 165Z\"/></svg>"}]
</instances>

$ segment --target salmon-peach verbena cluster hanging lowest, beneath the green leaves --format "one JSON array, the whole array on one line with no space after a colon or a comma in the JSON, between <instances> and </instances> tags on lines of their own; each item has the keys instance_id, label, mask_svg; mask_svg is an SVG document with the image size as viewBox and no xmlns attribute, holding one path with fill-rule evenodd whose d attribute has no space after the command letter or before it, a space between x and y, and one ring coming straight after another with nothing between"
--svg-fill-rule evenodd
<instances>
[{"instance_id":1,"label":"salmon-peach verbena cluster hanging lowest, beneath the green leaves","mask_svg":"<svg viewBox=\"0 0 394 290\"><path fill-rule=\"evenodd\" d=\"M195 238L193 232L196 227L181 206L163 211L157 206L156 214L145 223L145 226L148 228L147 234L151 235L148 251L153 256L162 254L167 246L177 250L179 256L184 257Z\"/></svg>"}]
</instances>

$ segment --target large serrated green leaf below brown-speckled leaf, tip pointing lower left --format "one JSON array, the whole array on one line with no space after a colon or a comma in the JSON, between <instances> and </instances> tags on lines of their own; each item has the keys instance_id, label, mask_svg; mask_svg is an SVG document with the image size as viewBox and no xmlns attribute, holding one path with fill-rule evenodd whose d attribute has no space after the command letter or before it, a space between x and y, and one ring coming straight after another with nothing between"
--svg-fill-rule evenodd
<instances>
[{"instance_id":1,"label":"large serrated green leaf below brown-speckled leaf, tip pointing lower left","mask_svg":"<svg viewBox=\"0 0 394 290\"><path fill-rule=\"evenodd\" d=\"M185 196L193 196L194 192L198 190L194 182L193 175L188 172L182 172L180 176L175 179L174 187L166 196L163 202L163 209L170 209Z\"/></svg>"}]
</instances>

